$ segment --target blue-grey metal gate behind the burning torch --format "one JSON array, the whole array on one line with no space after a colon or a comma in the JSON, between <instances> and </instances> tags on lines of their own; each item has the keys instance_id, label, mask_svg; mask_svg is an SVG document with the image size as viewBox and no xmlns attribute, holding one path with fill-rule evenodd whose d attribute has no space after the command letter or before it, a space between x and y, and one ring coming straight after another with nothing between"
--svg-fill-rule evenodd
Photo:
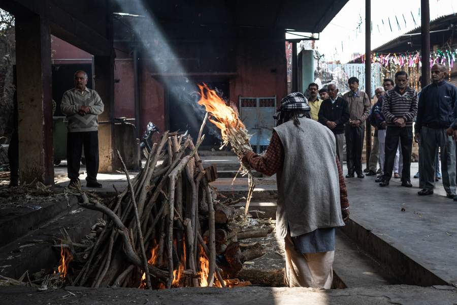
<instances>
[{"instance_id":1,"label":"blue-grey metal gate behind the burning torch","mask_svg":"<svg viewBox=\"0 0 457 305\"><path fill-rule=\"evenodd\" d=\"M275 127L273 115L276 112L276 97L239 99L241 120L251 137L251 146L256 153L262 153L270 144Z\"/></svg>"}]
</instances>

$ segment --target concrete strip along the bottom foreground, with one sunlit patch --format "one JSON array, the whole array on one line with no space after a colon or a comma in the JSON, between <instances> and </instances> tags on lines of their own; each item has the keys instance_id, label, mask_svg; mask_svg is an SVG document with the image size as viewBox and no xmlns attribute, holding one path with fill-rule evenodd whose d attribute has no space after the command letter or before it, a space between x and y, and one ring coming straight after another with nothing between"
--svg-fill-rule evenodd
<instances>
[{"instance_id":1,"label":"concrete strip along the bottom foreground, with one sunlit patch","mask_svg":"<svg viewBox=\"0 0 457 305\"><path fill-rule=\"evenodd\" d=\"M418 287L406 285L315 290L310 288L238 287L176 288L142 290L135 288L82 288L37 291L28 287L0 287L0 305L452 305L457 289L449 286Z\"/></svg>"}]
</instances>

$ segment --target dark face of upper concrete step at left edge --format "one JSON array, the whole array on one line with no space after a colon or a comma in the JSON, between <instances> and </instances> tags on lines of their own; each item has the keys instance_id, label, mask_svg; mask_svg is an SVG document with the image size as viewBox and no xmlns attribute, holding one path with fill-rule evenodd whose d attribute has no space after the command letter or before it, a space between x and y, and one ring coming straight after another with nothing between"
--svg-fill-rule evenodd
<instances>
[{"instance_id":1,"label":"dark face of upper concrete step at left edge","mask_svg":"<svg viewBox=\"0 0 457 305\"><path fill-rule=\"evenodd\" d=\"M70 196L68 203L62 196L60 201L42 203L42 207L38 210L26 208L18 212L11 212L10 217L7 215L2 217L0 221L0 247L32 230L38 229L41 225L59 215L68 214L76 206L77 199L75 196Z\"/></svg>"}]
</instances>

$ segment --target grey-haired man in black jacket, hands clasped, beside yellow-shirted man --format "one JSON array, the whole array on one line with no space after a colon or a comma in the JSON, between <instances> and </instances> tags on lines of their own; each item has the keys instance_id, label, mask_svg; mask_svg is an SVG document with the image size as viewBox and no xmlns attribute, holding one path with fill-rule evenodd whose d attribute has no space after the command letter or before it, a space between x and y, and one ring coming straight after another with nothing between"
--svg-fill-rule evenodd
<instances>
[{"instance_id":1,"label":"grey-haired man in black jacket, hands clasped, beside yellow-shirted man","mask_svg":"<svg viewBox=\"0 0 457 305\"><path fill-rule=\"evenodd\" d=\"M349 120L349 107L347 101L338 96L335 84L330 84L327 88L330 98L320 105L319 122L333 132L338 160L343 164L344 124Z\"/></svg>"}]
</instances>

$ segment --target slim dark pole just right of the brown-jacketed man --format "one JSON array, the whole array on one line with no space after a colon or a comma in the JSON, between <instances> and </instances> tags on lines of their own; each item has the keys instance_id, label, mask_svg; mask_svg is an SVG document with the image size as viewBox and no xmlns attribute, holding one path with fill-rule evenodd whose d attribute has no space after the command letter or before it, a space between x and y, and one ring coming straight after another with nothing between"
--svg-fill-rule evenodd
<instances>
[{"instance_id":1,"label":"slim dark pole just right of the brown-jacketed man","mask_svg":"<svg viewBox=\"0 0 457 305\"><path fill-rule=\"evenodd\" d=\"M371 0L365 0L365 92L371 100ZM367 168L371 154L371 125L366 120L366 159Z\"/></svg>"}]
</instances>

